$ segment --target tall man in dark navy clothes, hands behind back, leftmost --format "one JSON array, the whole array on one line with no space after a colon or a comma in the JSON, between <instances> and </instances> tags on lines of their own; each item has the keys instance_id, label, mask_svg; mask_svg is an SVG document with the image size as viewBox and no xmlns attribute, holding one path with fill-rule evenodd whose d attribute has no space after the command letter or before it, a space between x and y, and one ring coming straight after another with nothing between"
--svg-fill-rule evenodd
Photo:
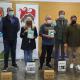
<instances>
[{"instance_id":1,"label":"tall man in dark navy clothes, hands behind back, leftmost","mask_svg":"<svg viewBox=\"0 0 80 80\"><path fill-rule=\"evenodd\" d=\"M20 29L19 20L14 16L12 8L7 8L7 15L2 19L3 44L4 44L4 68L8 68L9 52L11 53L12 66L17 68L16 64L16 42L17 32Z\"/></svg>"}]
</instances>

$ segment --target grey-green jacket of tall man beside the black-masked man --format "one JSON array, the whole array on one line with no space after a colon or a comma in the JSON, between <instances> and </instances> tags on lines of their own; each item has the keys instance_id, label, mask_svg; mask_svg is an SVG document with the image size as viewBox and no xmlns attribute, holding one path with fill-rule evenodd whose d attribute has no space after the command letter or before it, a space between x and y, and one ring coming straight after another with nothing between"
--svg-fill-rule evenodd
<instances>
[{"instance_id":1,"label":"grey-green jacket of tall man beside the black-masked man","mask_svg":"<svg viewBox=\"0 0 80 80\"><path fill-rule=\"evenodd\" d=\"M68 24L67 19L58 18L56 20L56 26L54 28L55 31L56 31L55 39L64 41L64 34L65 34L65 30L66 30L67 24Z\"/></svg>"}]
</instances>

